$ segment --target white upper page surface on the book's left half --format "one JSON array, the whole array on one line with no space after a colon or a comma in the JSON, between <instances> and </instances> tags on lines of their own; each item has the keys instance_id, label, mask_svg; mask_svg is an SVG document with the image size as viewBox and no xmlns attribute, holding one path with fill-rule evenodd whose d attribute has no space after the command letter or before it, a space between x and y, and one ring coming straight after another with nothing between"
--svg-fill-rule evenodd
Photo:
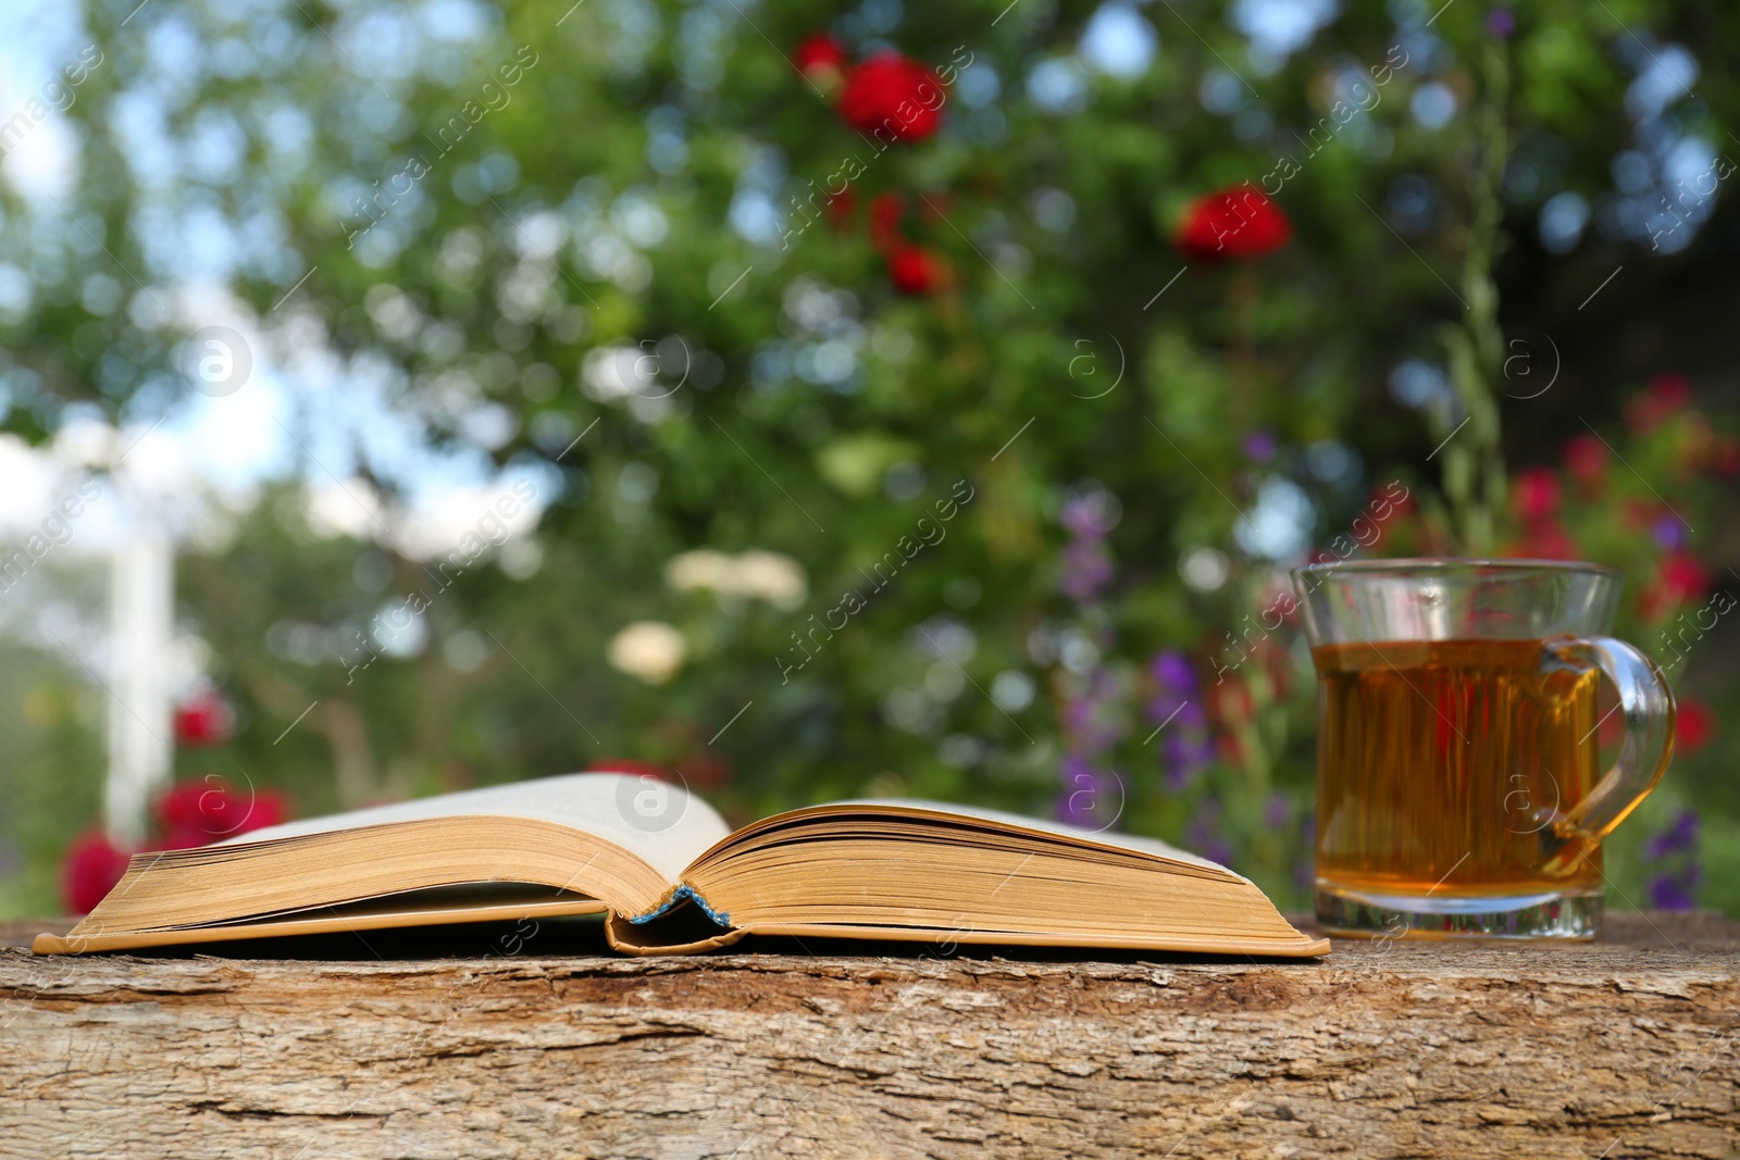
<instances>
[{"instance_id":1,"label":"white upper page surface on the book's left half","mask_svg":"<svg viewBox=\"0 0 1740 1160\"><path fill-rule=\"evenodd\" d=\"M682 786L642 774L593 772L371 805L346 814L252 830L218 845L245 845L398 821L468 816L529 817L569 826L635 854L665 875L666 882L677 882L696 856L731 833L726 819L712 805Z\"/></svg>"}]
</instances>

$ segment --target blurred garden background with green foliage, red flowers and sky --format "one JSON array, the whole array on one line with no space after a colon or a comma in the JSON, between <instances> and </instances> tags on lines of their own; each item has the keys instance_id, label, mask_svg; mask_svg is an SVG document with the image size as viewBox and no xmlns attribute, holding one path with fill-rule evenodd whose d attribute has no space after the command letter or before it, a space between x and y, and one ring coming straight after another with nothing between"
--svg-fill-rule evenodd
<instances>
[{"instance_id":1,"label":"blurred garden background with green foliage, red flowers and sky","mask_svg":"<svg viewBox=\"0 0 1740 1160\"><path fill-rule=\"evenodd\" d=\"M1610 904L1740 913L1737 56L1714 0L9 3L0 915L625 760L1302 908L1286 567L1437 553L1625 570L1681 727Z\"/></svg>"}]
</instances>

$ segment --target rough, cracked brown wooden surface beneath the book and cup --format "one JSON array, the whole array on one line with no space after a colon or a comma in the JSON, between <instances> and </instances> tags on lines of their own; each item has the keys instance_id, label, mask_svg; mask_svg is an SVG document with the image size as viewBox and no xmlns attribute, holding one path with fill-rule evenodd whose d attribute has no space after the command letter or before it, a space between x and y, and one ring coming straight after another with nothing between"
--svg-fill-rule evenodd
<instances>
[{"instance_id":1,"label":"rough, cracked brown wooden surface beneath the book and cup","mask_svg":"<svg viewBox=\"0 0 1740 1160\"><path fill-rule=\"evenodd\" d=\"M0 1155L1740 1155L1740 925L1714 917L1164 963L628 960L553 925L466 929L470 958L0 950Z\"/></svg>"}]
</instances>

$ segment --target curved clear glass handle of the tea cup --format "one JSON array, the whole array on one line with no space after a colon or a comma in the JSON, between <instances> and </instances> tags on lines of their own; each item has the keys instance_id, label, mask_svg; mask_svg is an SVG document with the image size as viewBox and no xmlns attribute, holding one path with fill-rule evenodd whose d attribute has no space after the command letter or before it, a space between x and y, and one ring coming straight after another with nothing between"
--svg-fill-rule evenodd
<instances>
[{"instance_id":1,"label":"curved clear glass handle of the tea cup","mask_svg":"<svg viewBox=\"0 0 1740 1160\"><path fill-rule=\"evenodd\" d=\"M1667 772L1674 757L1674 692L1662 670L1634 645L1611 637L1550 640L1542 654L1542 675L1554 671L1601 673L1618 689L1625 741L1613 769L1542 831L1547 873L1566 873L1637 809ZM1603 718L1604 720L1604 718ZM1599 729L1601 723L1596 723Z\"/></svg>"}]
</instances>

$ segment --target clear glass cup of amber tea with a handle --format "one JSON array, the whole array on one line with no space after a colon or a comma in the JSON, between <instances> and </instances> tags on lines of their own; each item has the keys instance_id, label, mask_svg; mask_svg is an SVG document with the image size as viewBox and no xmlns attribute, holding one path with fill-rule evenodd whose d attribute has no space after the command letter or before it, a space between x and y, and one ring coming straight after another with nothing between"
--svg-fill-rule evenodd
<instances>
[{"instance_id":1,"label":"clear glass cup of amber tea with a handle","mask_svg":"<svg viewBox=\"0 0 1740 1160\"><path fill-rule=\"evenodd\" d=\"M1295 569L1317 666L1329 934L1592 939L1601 840L1674 751L1674 696L1613 624L1620 574L1545 560ZM1601 678L1618 703L1597 715ZM1611 696L1611 694L1610 694ZM1622 715L1613 769L1599 730Z\"/></svg>"}]
</instances>

